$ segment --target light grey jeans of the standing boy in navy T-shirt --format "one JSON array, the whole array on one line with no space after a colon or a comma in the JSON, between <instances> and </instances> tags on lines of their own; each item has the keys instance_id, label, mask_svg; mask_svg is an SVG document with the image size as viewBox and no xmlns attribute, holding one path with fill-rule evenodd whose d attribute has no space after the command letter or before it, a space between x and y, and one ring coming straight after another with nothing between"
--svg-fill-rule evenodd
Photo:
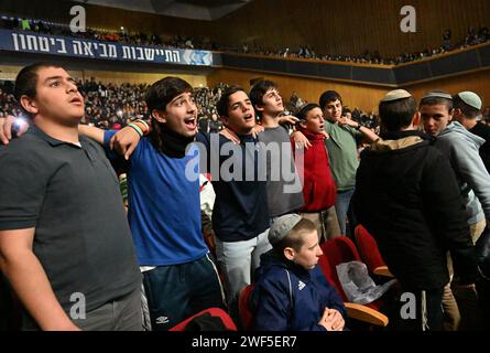
<instances>
[{"instance_id":1,"label":"light grey jeans of the standing boy in navy T-shirt","mask_svg":"<svg viewBox=\"0 0 490 353\"><path fill-rule=\"evenodd\" d=\"M221 242L216 238L216 256L225 275L229 307L232 307L240 291L252 282L260 256L272 248L268 235L269 229L243 242Z\"/></svg>"}]
</instances>

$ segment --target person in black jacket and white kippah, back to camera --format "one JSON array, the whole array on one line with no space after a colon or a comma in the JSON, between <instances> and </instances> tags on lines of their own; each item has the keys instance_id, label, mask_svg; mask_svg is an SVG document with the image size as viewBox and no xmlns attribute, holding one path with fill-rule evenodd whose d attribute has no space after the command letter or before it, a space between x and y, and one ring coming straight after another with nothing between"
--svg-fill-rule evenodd
<instances>
[{"instance_id":1,"label":"person in black jacket and white kippah, back to camera","mask_svg":"<svg viewBox=\"0 0 490 353\"><path fill-rule=\"evenodd\" d=\"M361 154L353 207L375 237L402 291L416 299L415 319L393 318L399 330L442 330L442 300L449 282L449 250L460 286L477 275L475 248L454 171L417 130L415 99L390 92L379 106L381 139Z\"/></svg>"}]
</instances>

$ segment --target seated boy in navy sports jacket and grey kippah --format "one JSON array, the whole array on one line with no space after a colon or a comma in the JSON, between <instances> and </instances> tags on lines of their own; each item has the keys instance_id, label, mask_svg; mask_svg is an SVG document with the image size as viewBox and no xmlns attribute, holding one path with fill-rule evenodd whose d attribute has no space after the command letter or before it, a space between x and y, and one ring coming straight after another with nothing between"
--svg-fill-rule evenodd
<instances>
[{"instance_id":1,"label":"seated boy in navy sports jacket and grey kippah","mask_svg":"<svg viewBox=\"0 0 490 353\"><path fill-rule=\"evenodd\" d=\"M323 255L313 222L297 214L277 218L273 249L262 255L251 297L260 331L342 331L346 309L316 267Z\"/></svg>"}]
</instances>

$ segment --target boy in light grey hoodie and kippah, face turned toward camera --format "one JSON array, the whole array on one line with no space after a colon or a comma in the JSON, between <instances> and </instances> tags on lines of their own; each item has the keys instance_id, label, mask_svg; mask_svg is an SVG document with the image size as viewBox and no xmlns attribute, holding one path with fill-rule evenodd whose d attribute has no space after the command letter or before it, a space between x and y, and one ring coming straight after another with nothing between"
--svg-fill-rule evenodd
<instances>
[{"instance_id":1,"label":"boy in light grey hoodie and kippah, face turned toward camera","mask_svg":"<svg viewBox=\"0 0 490 353\"><path fill-rule=\"evenodd\" d=\"M442 90L433 90L422 97L420 104L422 122L426 132L436 137L434 146L445 154L453 167L465 201L466 221L470 227L472 242L476 243L483 233L487 221L490 220L490 175L481 160L479 149L484 140L469 132L454 118L453 97ZM454 258L453 258L454 260ZM450 269L450 263L449 263ZM476 327L477 298L475 288L454 292L457 297L465 297L466 307L472 308L459 313L454 301L449 285L445 288L443 304L446 308L447 329L466 330ZM460 324L459 324L460 321Z\"/></svg>"}]
</instances>

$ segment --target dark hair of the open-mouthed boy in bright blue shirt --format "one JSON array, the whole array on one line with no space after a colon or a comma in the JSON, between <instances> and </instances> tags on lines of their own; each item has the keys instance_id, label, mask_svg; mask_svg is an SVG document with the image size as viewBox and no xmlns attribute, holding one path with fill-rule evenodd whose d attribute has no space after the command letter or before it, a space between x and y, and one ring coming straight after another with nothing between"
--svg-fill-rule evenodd
<instances>
[{"instance_id":1,"label":"dark hair of the open-mouthed boy in bright blue shirt","mask_svg":"<svg viewBox=\"0 0 490 353\"><path fill-rule=\"evenodd\" d=\"M188 82L179 77L167 76L150 86L144 100L151 114L154 109L165 110L166 105L171 103L172 99L185 92L193 92L193 87Z\"/></svg>"}]
</instances>

